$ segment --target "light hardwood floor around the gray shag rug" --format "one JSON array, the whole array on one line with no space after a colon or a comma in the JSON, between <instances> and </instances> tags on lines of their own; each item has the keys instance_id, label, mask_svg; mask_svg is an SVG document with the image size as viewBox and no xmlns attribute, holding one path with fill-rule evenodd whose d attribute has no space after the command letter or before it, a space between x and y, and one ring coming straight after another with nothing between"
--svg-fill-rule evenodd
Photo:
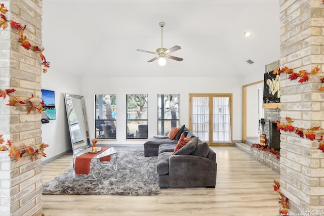
<instances>
[{"instance_id":1,"label":"light hardwood floor around the gray shag rug","mask_svg":"<svg viewBox=\"0 0 324 216\"><path fill-rule=\"evenodd\" d=\"M273 179L279 174L236 147L212 147L217 153L216 188L161 189L155 196L43 195L45 216L56 215L278 215ZM69 168L71 154L43 166L43 182Z\"/></svg>"}]
</instances>

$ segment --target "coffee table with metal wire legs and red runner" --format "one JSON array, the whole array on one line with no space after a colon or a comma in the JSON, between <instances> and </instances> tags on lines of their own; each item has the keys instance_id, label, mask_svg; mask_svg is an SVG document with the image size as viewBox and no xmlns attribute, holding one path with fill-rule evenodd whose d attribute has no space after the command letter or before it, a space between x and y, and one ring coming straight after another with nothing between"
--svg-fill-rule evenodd
<instances>
[{"instance_id":1,"label":"coffee table with metal wire legs and red runner","mask_svg":"<svg viewBox=\"0 0 324 216\"><path fill-rule=\"evenodd\" d=\"M93 153L91 148L84 149L73 154L73 181L74 180L98 180L107 177L117 171L117 151L113 147L98 147L102 148L98 153ZM79 158L78 158L79 157ZM90 172L89 174L76 174L76 164L81 157L87 157L86 160L90 160ZM110 157L110 160L105 160ZM78 158L78 160L77 160ZM103 160L103 161L102 161ZM78 162L79 163L79 162ZM87 163L86 163L87 164ZM84 165L84 164L82 164ZM103 175L105 169L110 169ZM91 174L91 175L90 175Z\"/></svg>"}]
</instances>

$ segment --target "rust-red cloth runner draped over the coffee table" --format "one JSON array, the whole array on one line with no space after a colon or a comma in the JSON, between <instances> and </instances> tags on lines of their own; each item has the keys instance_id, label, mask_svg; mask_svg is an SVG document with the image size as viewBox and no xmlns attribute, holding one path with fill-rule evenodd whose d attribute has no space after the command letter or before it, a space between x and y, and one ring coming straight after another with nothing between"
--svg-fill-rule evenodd
<instances>
[{"instance_id":1,"label":"rust-red cloth runner draped over the coffee table","mask_svg":"<svg viewBox=\"0 0 324 216\"><path fill-rule=\"evenodd\" d=\"M86 152L78 157L75 158L75 174L76 175L81 175L85 174L88 175L90 172L90 163L91 159L98 154L101 154L103 151L109 149L110 147L101 147L101 151L98 153L89 153ZM109 161L110 160L110 155L106 157L100 158L100 161Z\"/></svg>"}]
</instances>

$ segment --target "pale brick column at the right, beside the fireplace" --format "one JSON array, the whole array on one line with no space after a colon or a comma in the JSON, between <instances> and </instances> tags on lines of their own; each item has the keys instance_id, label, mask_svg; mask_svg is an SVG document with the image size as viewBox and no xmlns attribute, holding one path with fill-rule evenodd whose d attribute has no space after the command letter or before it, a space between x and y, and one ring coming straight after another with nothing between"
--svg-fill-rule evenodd
<instances>
[{"instance_id":1,"label":"pale brick column at the right, beside the fireplace","mask_svg":"<svg viewBox=\"0 0 324 216\"><path fill-rule=\"evenodd\" d=\"M280 1L281 65L295 72L310 72L317 65L324 70L323 14L320 0ZM289 116L295 120L294 126L324 128L324 92L318 91L320 86L316 77L298 83L282 74L281 121ZM323 209L324 153L318 149L318 142L284 132L280 140L280 185L281 192L290 199L289 213Z\"/></svg>"}]
</instances>

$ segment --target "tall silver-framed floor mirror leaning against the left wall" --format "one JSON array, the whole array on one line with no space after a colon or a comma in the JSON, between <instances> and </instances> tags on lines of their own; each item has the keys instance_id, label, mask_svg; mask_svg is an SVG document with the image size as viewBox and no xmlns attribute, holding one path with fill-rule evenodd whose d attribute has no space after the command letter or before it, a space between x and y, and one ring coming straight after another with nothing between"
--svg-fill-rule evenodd
<instances>
[{"instance_id":1,"label":"tall silver-framed floor mirror leaning against the left wall","mask_svg":"<svg viewBox=\"0 0 324 216\"><path fill-rule=\"evenodd\" d=\"M90 147L89 129L83 96L64 94L67 122L73 153Z\"/></svg>"}]
</instances>

